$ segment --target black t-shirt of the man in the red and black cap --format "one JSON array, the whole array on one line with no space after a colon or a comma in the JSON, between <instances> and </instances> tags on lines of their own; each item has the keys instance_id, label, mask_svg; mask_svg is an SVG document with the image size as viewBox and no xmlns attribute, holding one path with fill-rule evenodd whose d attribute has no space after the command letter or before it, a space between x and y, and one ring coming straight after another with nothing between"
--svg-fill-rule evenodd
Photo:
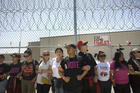
<instances>
[{"instance_id":1,"label":"black t-shirt of the man in the red and black cap","mask_svg":"<svg viewBox=\"0 0 140 93\"><path fill-rule=\"evenodd\" d=\"M92 57L92 55L90 53L82 53L79 52L78 56L81 57L81 62L82 62L82 67L89 65L90 66L90 70L88 71L88 73L86 74L85 77L90 77L90 76L95 76L95 71L94 71L94 67L97 65L94 58Z\"/></svg>"}]
</instances>

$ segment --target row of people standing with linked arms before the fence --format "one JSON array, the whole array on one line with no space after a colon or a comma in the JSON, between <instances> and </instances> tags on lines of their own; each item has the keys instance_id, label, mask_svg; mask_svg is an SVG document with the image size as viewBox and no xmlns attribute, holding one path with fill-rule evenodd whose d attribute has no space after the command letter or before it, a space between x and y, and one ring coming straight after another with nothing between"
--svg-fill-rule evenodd
<instances>
[{"instance_id":1,"label":"row of people standing with linked arms before the fence","mask_svg":"<svg viewBox=\"0 0 140 93\"><path fill-rule=\"evenodd\" d=\"M121 49L117 49L111 62L106 60L104 51L96 53L95 58L88 53L88 42L79 41L66 45L67 57L63 49L56 48L56 57L50 59L50 52L42 52L42 61L32 58L31 49L20 55L11 55L10 65L3 63L0 55L0 93L140 93L140 49L130 52L125 60ZM77 48L79 53L76 54Z\"/></svg>"}]
</instances>

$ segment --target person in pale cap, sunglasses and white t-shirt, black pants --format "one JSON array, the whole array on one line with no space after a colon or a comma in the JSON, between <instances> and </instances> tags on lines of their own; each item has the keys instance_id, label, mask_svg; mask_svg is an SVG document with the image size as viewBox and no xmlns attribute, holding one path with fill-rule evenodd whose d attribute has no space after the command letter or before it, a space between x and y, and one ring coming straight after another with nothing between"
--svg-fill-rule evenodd
<instances>
[{"instance_id":1,"label":"person in pale cap, sunglasses and white t-shirt, black pants","mask_svg":"<svg viewBox=\"0 0 140 93\"><path fill-rule=\"evenodd\" d=\"M52 75L50 52L48 50L44 50L41 57L43 61L39 65L37 93L49 93Z\"/></svg>"}]
</instances>

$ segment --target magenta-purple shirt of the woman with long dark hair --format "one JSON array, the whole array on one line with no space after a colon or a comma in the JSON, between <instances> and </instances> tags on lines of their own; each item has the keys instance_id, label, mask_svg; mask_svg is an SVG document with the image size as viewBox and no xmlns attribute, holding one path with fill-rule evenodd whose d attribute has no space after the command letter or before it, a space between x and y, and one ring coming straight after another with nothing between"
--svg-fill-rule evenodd
<instances>
[{"instance_id":1,"label":"magenta-purple shirt of the woman with long dark hair","mask_svg":"<svg viewBox=\"0 0 140 93\"><path fill-rule=\"evenodd\" d=\"M113 78L116 84L128 84L128 68L126 65L121 64L122 68L115 69L115 62L110 63L110 69L114 71Z\"/></svg>"}]
</instances>

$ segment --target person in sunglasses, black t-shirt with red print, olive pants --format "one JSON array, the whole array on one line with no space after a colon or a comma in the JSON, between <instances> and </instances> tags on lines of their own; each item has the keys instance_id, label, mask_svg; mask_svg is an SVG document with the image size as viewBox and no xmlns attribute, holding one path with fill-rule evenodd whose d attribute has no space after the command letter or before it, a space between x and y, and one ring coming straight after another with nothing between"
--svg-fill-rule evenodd
<instances>
[{"instance_id":1,"label":"person in sunglasses, black t-shirt with red print, olive pants","mask_svg":"<svg viewBox=\"0 0 140 93\"><path fill-rule=\"evenodd\" d=\"M32 58L31 49L24 52L25 60L22 62L21 86L22 93L34 93L34 84L38 72L38 62Z\"/></svg>"}]
</instances>

